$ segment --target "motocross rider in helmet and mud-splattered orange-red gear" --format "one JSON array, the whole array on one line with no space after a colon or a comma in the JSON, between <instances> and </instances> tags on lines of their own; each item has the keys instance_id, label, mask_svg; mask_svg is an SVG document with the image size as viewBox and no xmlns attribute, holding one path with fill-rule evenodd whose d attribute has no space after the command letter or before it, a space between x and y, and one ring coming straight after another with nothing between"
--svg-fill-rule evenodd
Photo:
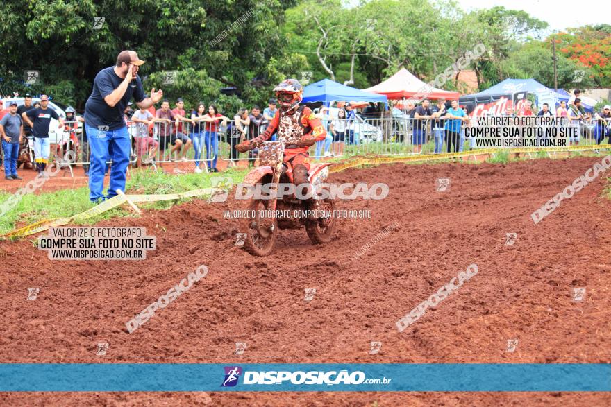
<instances>
[{"instance_id":1,"label":"motocross rider in helmet and mud-splattered orange-red gear","mask_svg":"<svg viewBox=\"0 0 611 407\"><path fill-rule=\"evenodd\" d=\"M235 149L240 153L252 150L276 133L278 141L285 143L283 162L292 168L294 184L296 186L307 185L309 192L312 186L308 181L310 170L308 148L316 141L324 140L326 131L310 107L299 106L303 98L303 87L298 80L283 80L274 88L274 92L280 103L280 109L274 115L274 119L269 122L265 132L252 140L238 144ZM308 202L315 203L313 199Z\"/></svg>"}]
</instances>

